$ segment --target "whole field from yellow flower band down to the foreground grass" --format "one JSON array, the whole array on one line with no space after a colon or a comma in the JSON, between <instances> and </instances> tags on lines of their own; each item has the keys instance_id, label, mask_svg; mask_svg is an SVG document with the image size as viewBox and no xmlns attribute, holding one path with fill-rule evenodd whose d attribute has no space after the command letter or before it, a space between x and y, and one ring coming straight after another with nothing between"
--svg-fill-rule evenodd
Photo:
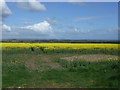
<instances>
[{"instance_id":1,"label":"whole field from yellow flower band down to the foreground grass","mask_svg":"<svg viewBox=\"0 0 120 90\"><path fill-rule=\"evenodd\" d=\"M2 43L3 88L118 88L118 45Z\"/></svg>"}]
</instances>

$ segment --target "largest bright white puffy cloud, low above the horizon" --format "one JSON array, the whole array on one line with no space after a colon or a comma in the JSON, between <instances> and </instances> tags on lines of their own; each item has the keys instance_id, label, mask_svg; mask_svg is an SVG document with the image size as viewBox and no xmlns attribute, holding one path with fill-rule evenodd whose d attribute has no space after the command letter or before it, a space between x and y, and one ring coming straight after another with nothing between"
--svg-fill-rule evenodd
<instances>
[{"instance_id":1,"label":"largest bright white puffy cloud, low above the horizon","mask_svg":"<svg viewBox=\"0 0 120 90\"><path fill-rule=\"evenodd\" d=\"M34 25L29 25L21 28L40 32L42 34L49 34L52 32L52 27L47 21L43 21Z\"/></svg>"}]
</instances>

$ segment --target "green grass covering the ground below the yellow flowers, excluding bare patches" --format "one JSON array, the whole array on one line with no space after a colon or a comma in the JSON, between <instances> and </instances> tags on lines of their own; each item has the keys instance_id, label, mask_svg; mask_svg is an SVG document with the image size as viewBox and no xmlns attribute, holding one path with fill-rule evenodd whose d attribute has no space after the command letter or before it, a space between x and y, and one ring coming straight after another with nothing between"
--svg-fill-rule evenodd
<instances>
[{"instance_id":1,"label":"green grass covering the ground below the yellow flowers, excluding bare patches","mask_svg":"<svg viewBox=\"0 0 120 90\"><path fill-rule=\"evenodd\" d=\"M37 50L32 52L30 49L14 48L3 50L3 88L118 88L118 81L120 80L120 63L118 61L86 62L60 59L63 56L74 56L76 54L95 54L97 51L86 50L83 52L63 52L62 50L59 53L58 51L45 53ZM99 51L99 53L117 55L115 51L109 51L108 53L107 51ZM52 68L49 66L50 63L42 58L43 56L51 60L50 63L57 63L63 69ZM28 68L25 63L31 61L31 59L34 60L35 67L45 70L39 71L35 68ZM29 64L32 65L32 63Z\"/></svg>"}]
</instances>

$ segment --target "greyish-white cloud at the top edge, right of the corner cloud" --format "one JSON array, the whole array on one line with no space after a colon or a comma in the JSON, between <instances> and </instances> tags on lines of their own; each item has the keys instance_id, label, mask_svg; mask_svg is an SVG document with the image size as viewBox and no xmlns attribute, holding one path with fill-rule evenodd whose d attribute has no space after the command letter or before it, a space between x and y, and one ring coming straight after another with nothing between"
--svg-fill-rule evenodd
<instances>
[{"instance_id":1,"label":"greyish-white cloud at the top edge, right of the corner cloud","mask_svg":"<svg viewBox=\"0 0 120 90\"><path fill-rule=\"evenodd\" d=\"M37 0L33 0L32 2L30 2L30 0L28 0L27 2L18 2L17 5L19 8L23 8L29 11L45 11L46 10L46 7Z\"/></svg>"}]
</instances>

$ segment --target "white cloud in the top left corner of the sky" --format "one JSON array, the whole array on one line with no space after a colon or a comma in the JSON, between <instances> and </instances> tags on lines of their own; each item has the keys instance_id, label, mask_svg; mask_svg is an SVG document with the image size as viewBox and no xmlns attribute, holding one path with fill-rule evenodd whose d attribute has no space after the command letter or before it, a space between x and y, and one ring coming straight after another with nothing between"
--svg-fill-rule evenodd
<instances>
[{"instance_id":1,"label":"white cloud in the top left corner of the sky","mask_svg":"<svg viewBox=\"0 0 120 90\"><path fill-rule=\"evenodd\" d=\"M0 1L0 12L2 12L0 13L0 16L3 16L3 17L9 16L12 14L11 10L8 8L4 0Z\"/></svg>"}]
</instances>

